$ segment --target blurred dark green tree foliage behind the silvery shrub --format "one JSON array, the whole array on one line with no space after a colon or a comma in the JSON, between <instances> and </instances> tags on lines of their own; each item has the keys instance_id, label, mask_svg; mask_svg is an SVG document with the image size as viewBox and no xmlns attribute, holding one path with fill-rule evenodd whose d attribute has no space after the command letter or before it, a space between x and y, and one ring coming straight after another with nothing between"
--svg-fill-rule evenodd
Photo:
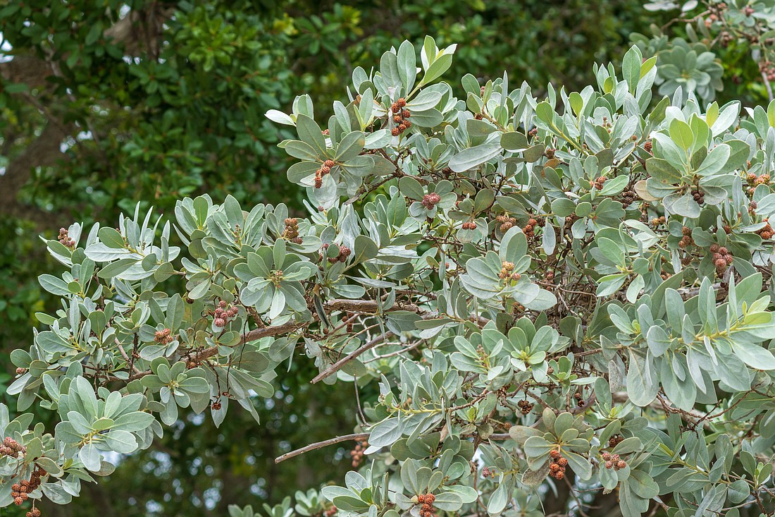
<instances>
[{"instance_id":1,"label":"blurred dark green tree foliage behind the silvery shrub","mask_svg":"<svg viewBox=\"0 0 775 517\"><path fill-rule=\"evenodd\" d=\"M592 62L619 61L632 33L647 34L632 37L645 55L673 52L665 41L674 37L705 44L691 27L669 26L675 16L635 0L2 2L3 353L26 348L30 327L41 327L34 314L56 308L36 279L53 267L37 235L55 238L72 220L117 220L137 203L171 213L175 201L201 193L301 209L300 189L285 181L294 160L276 145L294 131L264 113L290 112L298 92L329 109L357 64L376 65L401 40L419 47L432 34L439 47L458 43L449 78L476 70L484 84L507 70L512 82L577 91L594 82ZM654 36L652 23L669 36ZM703 83L708 100L766 100L749 46L734 40L716 51L721 58L697 75L718 82ZM683 64L673 54L660 59ZM13 367L4 366L8 383ZM182 413L173 432L123 460L107 482L87 484L77 509L52 505L46 515L224 515L229 504L276 504L288 487L341 477L352 461L345 449L274 465L277 453L352 432L355 421L351 387L310 389L315 368L292 368L262 399L262 425L234 411L216 430Z\"/></svg>"}]
</instances>

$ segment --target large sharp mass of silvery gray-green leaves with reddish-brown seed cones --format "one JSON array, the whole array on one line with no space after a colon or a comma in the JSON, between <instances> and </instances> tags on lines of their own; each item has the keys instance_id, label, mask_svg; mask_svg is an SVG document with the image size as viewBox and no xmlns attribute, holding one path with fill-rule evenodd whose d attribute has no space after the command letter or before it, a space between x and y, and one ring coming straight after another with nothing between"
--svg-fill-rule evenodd
<instances>
[{"instance_id":1,"label":"large sharp mass of silvery gray-green leaves with reddish-brown seed cones","mask_svg":"<svg viewBox=\"0 0 775 517\"><path fill-rule=\"evenodd\" d=\"M466 75L458 99L439 82L454 50L428 38L419 62L403 43L356 68L323 126L307 96L269 113L298 132L281 147L305 219L199 196L174 224L136 212L47 242L62 307L13 353L9 393L60 423L0 411L26 446L0 459L3 505L34 465L29 498L69 501L179 407L255 414L307 356L313 382L378 390L367 461L270 515L427 517L425 494L542 515L563 478L580 504L618 490L626 517L771 507L775 104L741 119L653 98L637 47L581 92Z\"/></svg>"}]
</instances>

